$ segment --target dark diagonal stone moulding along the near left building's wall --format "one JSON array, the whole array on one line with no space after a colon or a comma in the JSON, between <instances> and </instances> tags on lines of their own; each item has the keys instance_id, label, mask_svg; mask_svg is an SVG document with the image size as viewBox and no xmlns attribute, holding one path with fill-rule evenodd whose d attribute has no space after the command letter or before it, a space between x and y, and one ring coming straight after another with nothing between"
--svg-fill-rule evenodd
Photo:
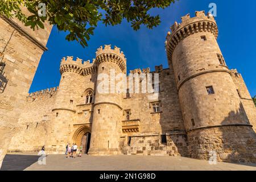
<instances>
[{"instance_id":1,"label":"dark diagonal stone moulding along the near left building's wall","mask_svg":"<svg viewBox=\"0 0 256 182\"><path fill-rule=\"evenodd\" d=\"M40 43L38 40L36 40L32 35L30 35L26 30L24 30L17 23L15 23L14 20L11 20L11 19L7 18L5 15L0 15L0 18L5 20L6 23L10 24L11 27L13 27L21 35L25 36L28 40L30 40L32 43L34 43L40 49L42 49L43 51L48 50L46 46L44 46L42 43Z\"/></svg>"}]
</instances>

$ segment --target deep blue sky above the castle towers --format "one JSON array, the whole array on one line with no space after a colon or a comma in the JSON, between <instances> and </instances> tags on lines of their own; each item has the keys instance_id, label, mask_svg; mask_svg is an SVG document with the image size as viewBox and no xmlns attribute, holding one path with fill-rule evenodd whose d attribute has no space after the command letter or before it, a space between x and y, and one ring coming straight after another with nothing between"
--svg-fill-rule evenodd
<instances>
[{"instance_id":1,"label":"deep blue sky above the castle towers","mask_svg":"<svg viewBox=\"0 0 256 182\"><path fill-rule=\"evenodd\" d=\"M164 50L164 41L170 26L180 22L180 17L195 11L209 11L209 3L216 3L219 36L218 43L228 67L237 68L246 82L251 96L256 95L256 25L255 7L256 1L232 1L232 0L180 0L167 9L154 9L151 14L159 14L162 20L160 26L153 30L141 27L134 31L130 24L123 20L117 26L105 27L98 23L94 35L89 41L89 46L82 48L77 42L65 40L65 32L59 32L53 27L47 43L48 51L43 53L30 92L51 88L59 85L60 60L64 56L79 57L83 60L91 60L95 57L98 47L104 44L112 44L112 47L120 47L127 58L127 71L135 68L150 67L163 64L168 68L167 56ZM74 59L75 59L74 58Z\"/></svg>"}]
</instances>

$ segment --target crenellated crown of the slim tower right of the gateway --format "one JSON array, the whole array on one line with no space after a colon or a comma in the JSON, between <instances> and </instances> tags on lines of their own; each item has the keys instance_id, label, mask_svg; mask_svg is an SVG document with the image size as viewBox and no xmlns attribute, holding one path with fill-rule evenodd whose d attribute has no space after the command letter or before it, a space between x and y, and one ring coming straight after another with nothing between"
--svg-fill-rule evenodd
<instances>
[{"instance_id":1,"label":"crenellated crown of the slim tower right of the gateway","mask_svg":"<svg viewBox=\"0 0 256 182\"><path fill-rule=\"evenodd\" d=\"M120 48L111 45L102 46L96 51L96 64L101 64L104 61L111 61L117 63L123 72L126 71L126 58L123 52L120 52Z\"/></svg>"}]
</instances>

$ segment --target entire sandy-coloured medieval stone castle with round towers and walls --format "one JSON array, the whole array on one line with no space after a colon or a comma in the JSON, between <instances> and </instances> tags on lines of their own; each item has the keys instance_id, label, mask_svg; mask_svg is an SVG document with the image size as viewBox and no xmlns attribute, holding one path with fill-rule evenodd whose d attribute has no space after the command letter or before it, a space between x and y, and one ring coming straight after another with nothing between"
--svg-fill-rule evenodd
<instances>
[{"instance_id":1,"label":"entire sandy-coloured medieval stone castle with round towers and walls","mask_svg":"<svg viewBox=\"0 0 256 182\"><path fill-rule=\"evenodd\" d=\"M16 27L0 20L2 48ZM256 163L256 108L240 73L226 65L214 18L197 11L181 20L166 37L169 68L130 71L159 74L153 100L151 93L134 93L134 88L98 92L101 73L127 74L125 55L110 45L98 48L92 63L64 57L59 86L25 96L51 27L34 42L17 32L19 40L3 58L10 81L0 93L0 146L9 152L38 151L45 144L47 152L63 154L69 142L82 144L89 155L215 155L220 161ZM27 45L25 51L15 47L17 41Z\"/></svg>"}]
</instances>

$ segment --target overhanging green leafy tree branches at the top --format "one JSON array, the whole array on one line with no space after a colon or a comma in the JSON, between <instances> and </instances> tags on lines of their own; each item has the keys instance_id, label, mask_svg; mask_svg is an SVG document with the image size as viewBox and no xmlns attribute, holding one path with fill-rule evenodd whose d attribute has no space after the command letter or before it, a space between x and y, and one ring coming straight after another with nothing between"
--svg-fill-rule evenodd
<instances>
[{"instance_id":1,"label":"overhanging green leafy tree branches at the top","mask_svg":"<svg viewBox=\"0 0 256 182\"><path fill-rule=\"evenodd\" d=\"M0 15L18 18L26 26L44 28L48 20L60 31L68 31L66 39L77 40L81 46L87 41L99 21L106 26L116 25L126 19L138 30L142 25L153 28L160 24L159 15L151 16L153 8L166 8L175 0L1 0ZM40 16L39 3L46 5L46 16ZM26 7L31 15L23 14L20 7Z\"/></svg>"}]
</instances>

